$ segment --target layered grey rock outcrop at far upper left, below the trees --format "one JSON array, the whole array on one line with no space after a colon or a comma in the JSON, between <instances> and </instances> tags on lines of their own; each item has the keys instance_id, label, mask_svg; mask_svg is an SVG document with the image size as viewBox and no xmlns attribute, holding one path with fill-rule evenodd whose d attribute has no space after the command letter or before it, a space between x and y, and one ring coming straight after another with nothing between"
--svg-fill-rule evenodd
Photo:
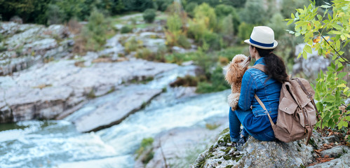
<instances>
[{"instance_id":1,"label":"layered grey rock outcrop at far upper left, below the trees","mask_svg":"<svg viewBox=\"0 0 350 168\"><path fill-rule=\"evenodd\" d=\"M73 35L63 25L18 24L1 22L0 76L27 69L39 62L67 55Z\"/></svg>"}]
</instances>

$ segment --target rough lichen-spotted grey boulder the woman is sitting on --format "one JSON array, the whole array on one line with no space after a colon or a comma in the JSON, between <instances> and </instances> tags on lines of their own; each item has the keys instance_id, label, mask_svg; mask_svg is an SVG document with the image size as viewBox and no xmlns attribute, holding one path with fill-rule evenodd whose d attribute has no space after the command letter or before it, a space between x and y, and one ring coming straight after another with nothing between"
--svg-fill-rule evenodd
<instances>
[{"instance_id":1,"label":"rough lichen-spotted grey boulder the woman is sitting on","mask_svg":"<svg viewBox=\"0 0 350 168\"><path fill-rule=\"evenodd\" d=\"M314 162L318 156L314 153L314 148L318 144L328 143L327 140L318 137L315 133L311 139L311 144L304 144L304 140L284 143L281 141L258 141L250 137L243 145L241 151L228 145L228 129L221 133L221 137L207 151L201 153L191 167L305 167ZM341 158L349 160L349 155L345 154L349 150L347 146L334 147ZM339 148L339 149L338 149ZM327 151L323 151L327 153ZM345 155L344 155L345 154ZM324 154L325 155L325 154ZM326 165L341 165L349 167L349 161L341 158L314 165L311 167L327 167Z\"/></svg>"}]
</instances>

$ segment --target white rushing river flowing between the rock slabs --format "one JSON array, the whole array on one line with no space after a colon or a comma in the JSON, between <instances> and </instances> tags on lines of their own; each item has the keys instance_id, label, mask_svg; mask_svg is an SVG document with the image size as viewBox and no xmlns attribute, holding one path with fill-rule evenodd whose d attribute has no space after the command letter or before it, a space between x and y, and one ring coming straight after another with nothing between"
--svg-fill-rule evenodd
<instances>
[{"instance_id":1,"label":"white rushing river flowing between the rock slabs","mask_svg":"<svg viewBox=\"0 0 350 168\"><path fill-rule=\"evenodd\" d=\"M91 100L65 120L1 124L0 167L133 167L133 153L142 139L175 127L205 127L210 118L227 116L229 90L177 98L178 90L168 87L168 83L188 73L194 73L194 66L179 66L159 74L147 84L122 87ZM167 89L119 125L98 132L80 133L70 122L100 104L116 101L114 98L119 92L128 92L135 87Z\"/></svg>"}]
</instances>

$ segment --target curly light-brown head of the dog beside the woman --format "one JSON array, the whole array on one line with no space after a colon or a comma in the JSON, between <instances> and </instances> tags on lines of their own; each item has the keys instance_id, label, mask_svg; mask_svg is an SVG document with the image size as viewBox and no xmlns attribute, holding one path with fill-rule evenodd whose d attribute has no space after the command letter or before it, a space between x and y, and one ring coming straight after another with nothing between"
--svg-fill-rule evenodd
<instances>
[{"instance_id":1,"label":"curly light-brown head of the dog beside the woman","mask_svg":"<svg viewBox=\"0 0 350 168\"><path fill-rule=\"evenodd\" d=\"M227 67L227 73L225 76L225 80L229 84L241 82L243 74L248 69L248 65L250 63L250 57L245 55L236 55L232 58L232 61L229 62L229 66Z\"/></svg>"}]
</instances>

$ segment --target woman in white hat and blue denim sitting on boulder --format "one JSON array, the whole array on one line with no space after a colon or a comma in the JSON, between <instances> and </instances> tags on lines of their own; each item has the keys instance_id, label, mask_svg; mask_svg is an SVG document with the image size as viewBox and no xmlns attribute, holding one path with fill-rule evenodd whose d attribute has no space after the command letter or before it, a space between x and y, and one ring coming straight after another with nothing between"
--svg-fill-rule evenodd
<instances>
[{"instance_id":1,"label":"woman in white hat and blue denim sitting on boulder","mask_svg":"<svg viewBox=\"0 0 350 168\"><path fill-rule=\"evenodd\" d=\"M288 80L283 60L272 52L278 43L274 40L274 31L270 27L254 27L250 39L244 42L250 45L250 57L256 59L255 64L263 64L266 73L258 69L245 71L238 108L236 111L229 108L230 137L236 147L243 145L249 135L260 141L276 139L267 113L254 95L257 94L262 100L276 123L281 86Z\"/></svg>"}]
</instances>

